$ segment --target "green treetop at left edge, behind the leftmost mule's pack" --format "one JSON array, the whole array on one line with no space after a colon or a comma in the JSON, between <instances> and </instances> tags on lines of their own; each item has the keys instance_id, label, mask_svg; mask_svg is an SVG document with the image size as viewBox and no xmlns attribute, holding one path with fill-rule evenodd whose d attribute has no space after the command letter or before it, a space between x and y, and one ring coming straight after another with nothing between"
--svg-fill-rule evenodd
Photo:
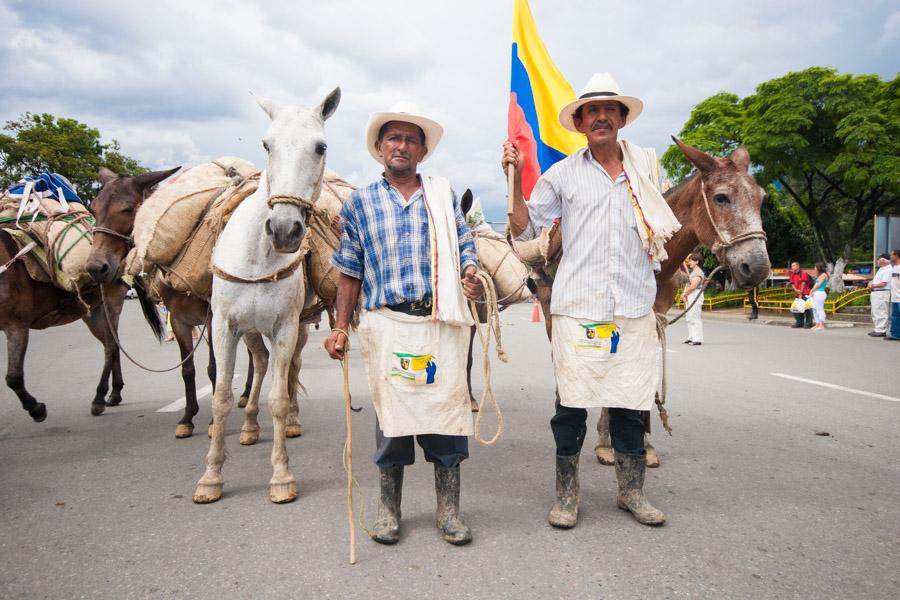
<instances>
[{"instance_id":1,"label":"green treetop at left edge, behind the leftmost mule's pack","mask_svg":"<svg viewBox=\"0 0 900 600\"><path fill-rule=\"evenodd\" d=\"M7 121L0 134L0 186L6 189L25 175L43 169L64 175L90 202L100 184L97 172L106 167L116 173L136 175L146 168L121 152L116 140L100 141L100 132L75 119L42 113L25 113Z\"/></svg>"}]
</instances>

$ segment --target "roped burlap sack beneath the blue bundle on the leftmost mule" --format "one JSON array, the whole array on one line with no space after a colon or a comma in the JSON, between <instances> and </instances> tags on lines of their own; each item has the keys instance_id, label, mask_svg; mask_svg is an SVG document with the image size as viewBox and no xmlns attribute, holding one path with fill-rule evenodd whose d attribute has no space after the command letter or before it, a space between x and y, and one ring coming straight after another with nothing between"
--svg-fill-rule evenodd
<instances>
[{"instance_id":1,"label":"roped burlap sack beneath the blue bundle on the leftmost mule","mask_svg":"<svg viewBox=\"0 0 900 600\"><path fill-rule=\"evenodd\" d=\"M91 253L94 218L84 205L70 202L68 212L63 213L59 202L43 198L37 211L23 214L17 223L18 209L17 198L0 196L0 227L7 230L20 248L31 241L38 243L25 259L29 275L72 293L90 285L91 277L85 266ZM43 273L35 269L36 264Z\"/></svg>"}]
</instances>

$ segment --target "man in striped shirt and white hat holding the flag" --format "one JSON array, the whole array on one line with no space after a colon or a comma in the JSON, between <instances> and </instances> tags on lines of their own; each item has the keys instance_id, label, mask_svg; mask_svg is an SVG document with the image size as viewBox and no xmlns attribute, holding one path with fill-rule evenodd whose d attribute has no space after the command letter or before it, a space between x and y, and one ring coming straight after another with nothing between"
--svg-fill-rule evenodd
<instances>
[{"instance_id":1,"label":"man in striped shirt and white hat holding the flag","mask_svg":"<svg viewBox=\"0 0 900 600\"><path fill-rule=\"evenodd\" d=\"M560 113L564 127L586 136L587 147L548 169L527 205L518 183L522 154L510 142L504 145L504 172L516 167L512 234L533 239L557 219L562 233L550 308L557 400L550 421L556 501L548 520L555 527L577 523L586 408L597 407L609 408L619 508L647 525L665 522L643 494L641 411L653 401L660 356L652 312L655 264L638 231L646 222L635 197L636 178L645 175L628 172L617 139L642 107L639 99L622 96L612 77L595 75Z\"/></svg>"}]
</instances>

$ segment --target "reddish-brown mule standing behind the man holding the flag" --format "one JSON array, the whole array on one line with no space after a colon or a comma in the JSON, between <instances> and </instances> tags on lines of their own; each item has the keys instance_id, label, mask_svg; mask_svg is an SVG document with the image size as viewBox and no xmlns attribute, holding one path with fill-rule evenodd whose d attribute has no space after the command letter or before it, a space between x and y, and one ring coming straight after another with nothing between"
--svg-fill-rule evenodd
<instances>
[{"instance_id":1,"label":"reddish-brown mule standing behind the man holding the flag","mask_svg":"<svg viewBox=\"0 0 900 600\"><path fill-rule=\"evenodd\" d=\"M675 302L681 285L678 267L698 246L711 249L719 262L731 269L735 285L749 289L769 276L771 263L762 230L760 207L764 190L749 174L750 154L743 147L727 158L716 158L672 138L697 171L665 193L666 202L681 223L681 229L666 244L668 258L656 275L653 310L665 315ZM538 288L545 315L550 314L550 287ZM547 334L550 335L547 319ZM649 422L648 422L649 430ZM603 410L597 421L600 435L597 459L613 464L609 443L609 416ZM647 464L658 466L656 451L647 442Z\"/></svg>"}]
</instances>

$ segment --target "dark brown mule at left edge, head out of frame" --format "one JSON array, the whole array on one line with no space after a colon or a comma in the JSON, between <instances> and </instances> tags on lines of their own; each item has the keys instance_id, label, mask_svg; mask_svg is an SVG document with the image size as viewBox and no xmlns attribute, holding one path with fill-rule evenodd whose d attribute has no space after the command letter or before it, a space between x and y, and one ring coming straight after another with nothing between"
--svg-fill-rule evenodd
<instances>
[{"instance_id":1,"label":"dark brown mule at left edge, head out of frame","mask_svg":"<svg viewBox=\"0 0 900 600\"><path fill-rule=\"evenodd\" d=\"M33 280L21 261L10 260L19 248L12 237L0 229L0 265L9 264L9 269L0 274L0 330L6 334L7 369L6 385L16 393L22 408L31 418L40 423L47 418L47 407L35 400L25 389L25 352L28 349L28 335L31 329L46 329L65 325L82 319L93 336L103 344L103 372L94 399L91 414L102 414L107 406L122 402L122 368L119 362L119 347L107 325L98 287L82 291L82 303L75 294L65 292L51 283ZM144 317L158 338L162 337L163 325L153 302L143 288L136 286ZM103 285L109 308L109 320L114 328L119 326L119 315L125 302L128 286L110 281ZM112 376L112 392L109 398L109 379Z\"/></svg>"}]
</instances>

